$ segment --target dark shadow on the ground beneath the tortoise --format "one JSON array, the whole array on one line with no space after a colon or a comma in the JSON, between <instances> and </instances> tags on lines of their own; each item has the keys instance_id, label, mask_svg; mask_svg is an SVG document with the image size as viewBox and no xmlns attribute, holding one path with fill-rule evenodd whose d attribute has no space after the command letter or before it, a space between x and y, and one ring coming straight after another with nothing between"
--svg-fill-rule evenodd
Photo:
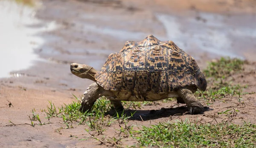
<instances>
[{"instance_id":1,"label":"dark shadow on the ground beneath the tortoise","mask_svg":"<svg viewBox=\"0 0 256 148\"><path fill-rule=\"evenodd\" d=\"M205 106L204 111L200 114L204 114L204 112L213 110L209 107ZM116 112L115 109L111 109L107 114L116 117L116 114L122 115L125 114L126 117L129 117L129 120L138 120L138 121L147 121L159 119L162 117L170 117L170 116L182 116L183 114L189 114L186 106L175 107L175 108L161 108L157 110L136 110L136 109L125 109L124 111Z\"/></svg>"}]
</instances>

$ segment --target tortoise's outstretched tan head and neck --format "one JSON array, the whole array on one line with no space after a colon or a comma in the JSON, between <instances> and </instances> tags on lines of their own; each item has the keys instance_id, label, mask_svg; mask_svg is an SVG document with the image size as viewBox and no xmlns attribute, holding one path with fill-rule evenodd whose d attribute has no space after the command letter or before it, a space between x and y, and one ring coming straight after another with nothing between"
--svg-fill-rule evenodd
<instances>
[{"instance_id":1,"label":"tortoise's outstretched tan head and neck","mask_svg":"<svg viewBox=\"0 0 256 148\"><path fill-rule=\"evenodd\" d=\"M89 65L71 63L70 70L71 73L80 78L88 78L96 82L94 75L97 73L97 70L95 70L93 67L90 67Z\"/></svg>"}]
</instances>

